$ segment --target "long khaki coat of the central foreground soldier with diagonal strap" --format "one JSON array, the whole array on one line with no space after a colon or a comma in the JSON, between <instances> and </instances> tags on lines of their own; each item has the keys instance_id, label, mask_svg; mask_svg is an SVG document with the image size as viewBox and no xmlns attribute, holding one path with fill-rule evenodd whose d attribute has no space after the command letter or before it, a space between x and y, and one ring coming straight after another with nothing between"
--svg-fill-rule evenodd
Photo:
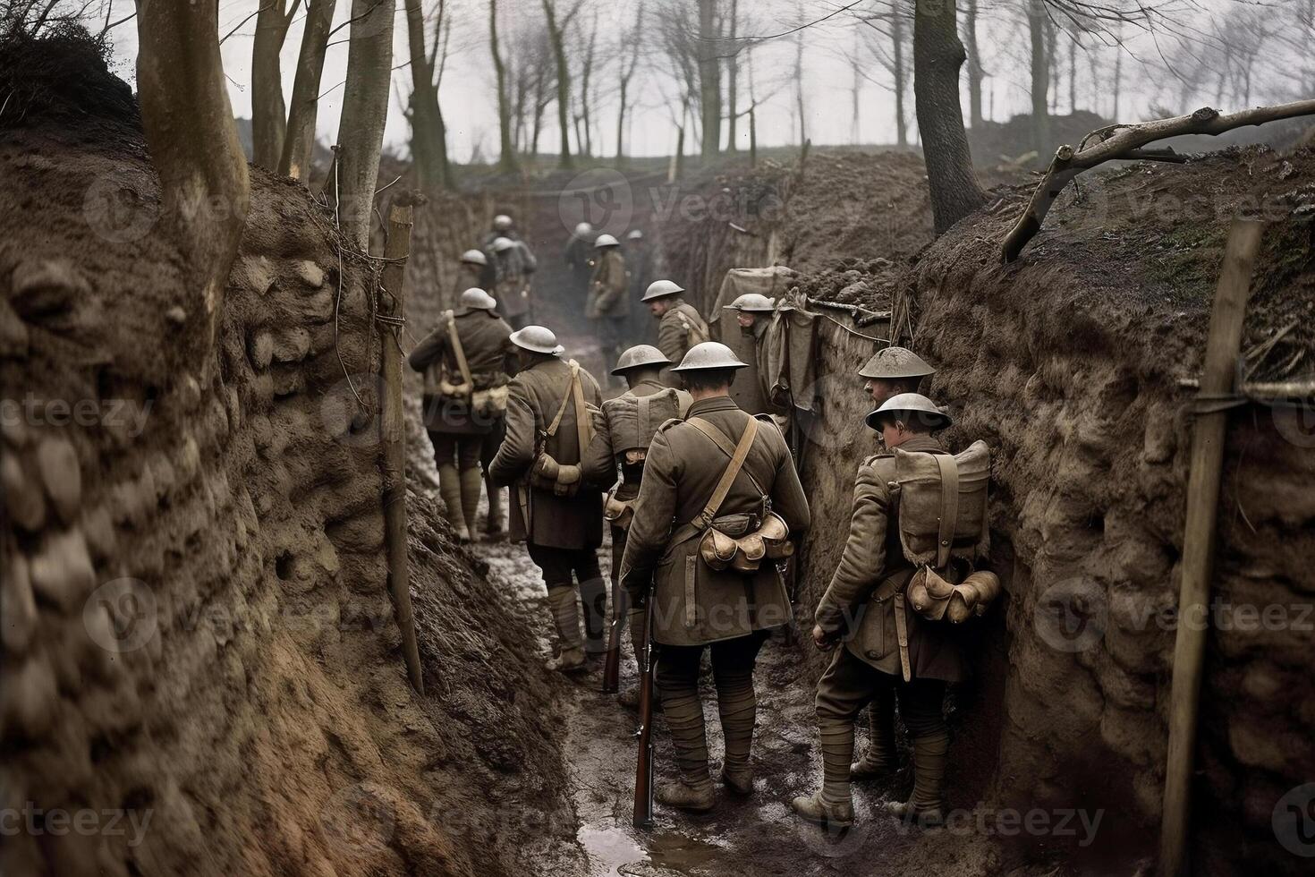
<instances>
[{"instance_id":1,"label":"long khaki coat of the central foreground soldier with diagonal strap","mask_svg":"<svg viewBox=\"0 0 1315 877\"><path fill-rule=\"evenodd\" d=\"M685 418L696 415L731 442L739 440L750 421L729 396L694 402ZM701 646L778 627L792 618L776 564L764 563L748 575L717 572L698 557L698 538L671 544L675 530L704 510L729 463L711 439L676 419L663 423L648 447L621 575L633 600L642 598L652 582L654 639L659 643ZM771 423L759 422L744 467L717 514L759 513L763 493L792 534L807 530L809 504L785 439Z\"/></svg>"}]
</instances>

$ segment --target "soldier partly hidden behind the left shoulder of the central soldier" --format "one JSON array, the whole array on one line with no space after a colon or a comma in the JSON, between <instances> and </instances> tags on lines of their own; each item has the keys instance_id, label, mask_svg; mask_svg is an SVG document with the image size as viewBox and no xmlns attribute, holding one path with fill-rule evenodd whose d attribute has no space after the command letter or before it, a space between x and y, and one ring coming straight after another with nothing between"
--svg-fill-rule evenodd
<instances>
[{"instance_id":1,"label":"soldier partly hidden behind the left shoulder of the central soldier","mask_svg":"<svg viewBox=\"0 0 1315 877\"><path fill-rule=\"evenodd\" d=\"M639 344L621 354L611 373L623 376L630 389L604 402L602 410L594 415L593 442L584 459L585 481L604 489L617 485L604 504L604 517L611 525L611 623L630 626L630 643L635 647L636 660L644 647L644 611L627 611L627 601L618 588L626 533L634 514L635 497L639 496L644 458L652 437L665 421L684 417L690 402L689 393L661 383L663 366L671 366L671 360L648 344ZM635 706L638 693L627 692L621 701L626 706Z\"/></svg>"}]
</instances>

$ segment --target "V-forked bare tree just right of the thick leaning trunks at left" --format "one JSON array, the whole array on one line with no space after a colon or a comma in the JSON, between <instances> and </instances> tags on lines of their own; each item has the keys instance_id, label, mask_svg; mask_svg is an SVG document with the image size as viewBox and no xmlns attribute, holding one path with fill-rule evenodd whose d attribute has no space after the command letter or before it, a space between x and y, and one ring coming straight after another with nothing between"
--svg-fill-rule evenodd
<instances>
[{"instance_id":1,"label":"V-forked bare tree just right of the thick leaning trunks at left","mask_svg":"<svg viewBox=\"0 0 1315 877\"><path fill-rule=\"evenodd\" d=\"M452 187L452 163L447 155L447 124L438 103L447 45L451 37L447 0L434 8L434 36L426 46L423 0L406 0L406 45L410 54L412 93L408 120L412 126L412 160L421 188Z\"/></svg>"}]
</instances>

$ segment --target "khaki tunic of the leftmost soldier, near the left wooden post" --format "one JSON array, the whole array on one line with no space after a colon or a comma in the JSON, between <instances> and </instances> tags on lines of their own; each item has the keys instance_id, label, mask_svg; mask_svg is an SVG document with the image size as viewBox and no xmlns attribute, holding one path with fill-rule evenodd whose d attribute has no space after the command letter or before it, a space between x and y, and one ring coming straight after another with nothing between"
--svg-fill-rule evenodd
<instances>
[{"instance_id":1,"label":"khaki tunic of the leftmost soldier, near the left wooden post","mask_svg":"<svg viewBox=\"0 0 1315 877\"><path fill-rule=\"evenodd\" d=\"M509 376L515 373L517 362L515 346L510 341L512 327L492 310L479 308L459 310L452 320L475 389L506 384ZM406 362L425 375L426 429L459 434L487 433L490 429L490 423L471 422L466 400L443 398L438 392L439 366L446 366L450 381L462 383L446 320L416 344Z\"/></svg>"}]
</instances>

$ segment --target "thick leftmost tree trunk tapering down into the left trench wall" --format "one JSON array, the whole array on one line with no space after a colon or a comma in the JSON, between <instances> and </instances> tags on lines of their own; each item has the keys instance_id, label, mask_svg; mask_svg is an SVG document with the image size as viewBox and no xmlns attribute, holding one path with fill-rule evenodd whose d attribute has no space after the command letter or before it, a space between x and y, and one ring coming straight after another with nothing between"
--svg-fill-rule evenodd
<instances>
[{"instance_id":1,"label":"thick leftmost tree trunk tapering down into the left trench wall","mask_svg":"<svg viewBox=\"0 0 1315 877\"><path fill-rule=\"evenodd\" d=\"M151 163L160 178L160 224L188 271L188 318L200 316L208 355L250 206L220 55L218 0L143 3L137 14L137 89ZM193 295L195 293L195 295ZM197 323L191 323L196 326Z\"/></svg>"}]
</instances>

